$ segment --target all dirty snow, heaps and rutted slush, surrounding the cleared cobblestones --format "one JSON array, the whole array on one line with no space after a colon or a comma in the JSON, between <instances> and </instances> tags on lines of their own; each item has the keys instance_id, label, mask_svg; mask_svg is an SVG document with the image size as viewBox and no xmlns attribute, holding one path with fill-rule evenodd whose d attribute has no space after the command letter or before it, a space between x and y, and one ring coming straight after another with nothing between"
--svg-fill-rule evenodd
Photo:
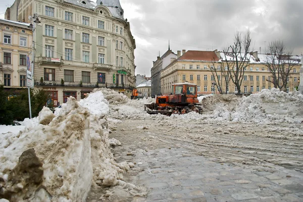
<instances>
[{"instance_id":1,"label":"all dirty snow, heaps and rutted slush, surrounding the cleared cobblestones","mask_svg":"<svg viewBox=\"0 0 303 202\"><path fill-rule=\"evenodd\" d=\"M21 125L0 126L0 178L4 179L0 196L11 202L85 201L91 188L108 186L132 195L146 194L143 187L123 181L123 173L133 163L117 163L111 153L110 146L123 142L110 140L109 132L125 119L140 123L136 129L142 133L159 132L147 123L163 126L167 139L205 145L206 154L222 162L250 165L270 161L301 168L303 160L297 153L302 152L302 98L297 92L287 94L277 89L242 98L231 94L203 96L199 97L203 114L169 117L144 111L144 104L155 99L129 100L110 89L95 89L80 102L69 98L55 114L43 108L39 117L26 119ZM144 125L146 120L150 121ZM239 151L236 155L235 150ZM35 175L29 177L24 171Z\"/></svg>"}]
</instances>

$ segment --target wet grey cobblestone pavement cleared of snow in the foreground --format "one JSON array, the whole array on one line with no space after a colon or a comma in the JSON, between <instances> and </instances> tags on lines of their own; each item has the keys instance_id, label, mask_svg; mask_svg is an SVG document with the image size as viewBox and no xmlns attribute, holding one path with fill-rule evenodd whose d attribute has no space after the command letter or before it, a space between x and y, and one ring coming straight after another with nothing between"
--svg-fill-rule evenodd
<instances>
[{"instance_id":1,"label":"wet grey cobblestone pavement cleared of snow in the foreground","mask_svg":"<svg viewBox=\"0 0 303 202\"><path fill-rule=\"evenodd\" d=\"M113 153L119 162L136 163L124 180L146 187L148 194L112 201L303 201L301 172L267 162L263 166L220 163L202 156L203 146L157 135L153 141L142 141L140 131L126 136L124 126L111 134L122 142ZM127 156L129 152L133 155Z\"/></svg>"}]
</instances>

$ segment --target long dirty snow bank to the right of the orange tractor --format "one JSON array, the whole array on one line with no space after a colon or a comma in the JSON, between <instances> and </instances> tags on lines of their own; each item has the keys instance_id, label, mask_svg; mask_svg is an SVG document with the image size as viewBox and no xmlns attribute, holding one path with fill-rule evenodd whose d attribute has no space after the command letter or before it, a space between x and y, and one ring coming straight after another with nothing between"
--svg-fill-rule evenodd
<instances>
[{"instance_id":1,"label":"long dirty snow bank to the right of the orange tractor","mask_svg":"<svg viewBox=\"0 0 303 202\"><path fill-rule=\"evenodd\" d=\"M172 115L182 120L233 121L255 123L300 123L303 121L303 95L264 89L248 97L234 94L204 98L203 114Z\"/></svg>"}]
</instances>

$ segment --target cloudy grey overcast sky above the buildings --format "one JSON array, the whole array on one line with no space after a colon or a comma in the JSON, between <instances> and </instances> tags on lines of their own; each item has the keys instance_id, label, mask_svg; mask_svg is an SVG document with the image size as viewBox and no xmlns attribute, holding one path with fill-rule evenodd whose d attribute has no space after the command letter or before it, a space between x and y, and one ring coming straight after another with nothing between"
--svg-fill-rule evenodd
<instances>
[{"instance_id":1,"label":"cloudy grey overcast sky above the buildings","mask_svg":"<svg viewBox=\"0 0 303 202\"><path fill-rule=\"evenodd\" d=\"M95 0L94 0L95 1ZM13 0L6 0L12 5ZM302 0L120 0L136 40L136 74L150 76L157 56L171 49L222 50L236 31L251 32L254 50L283 40L303 52ZM0 18L8 5L0 5Z\"/></svg>"}]
</instances>

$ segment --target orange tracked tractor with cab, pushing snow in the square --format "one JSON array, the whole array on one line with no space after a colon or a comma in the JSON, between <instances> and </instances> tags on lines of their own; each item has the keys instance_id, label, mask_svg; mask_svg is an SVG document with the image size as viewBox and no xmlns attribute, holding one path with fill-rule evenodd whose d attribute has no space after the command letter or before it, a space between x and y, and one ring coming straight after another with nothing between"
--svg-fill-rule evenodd
<instances>
[{"instance_id":1,"label":"orange tracked tractor with cab, pushing snow in the square","mask_svg":"<svg viewBox=\"0 0 303 202\"><path fill-rule=\"evenodd\" d=\"M197 86L188 82L173 84L170 95L156 96L156 103L145 104L149 114L185 114L195 111L202 113L201 103L197 99Z\"/></svg>"}]
</instances>

